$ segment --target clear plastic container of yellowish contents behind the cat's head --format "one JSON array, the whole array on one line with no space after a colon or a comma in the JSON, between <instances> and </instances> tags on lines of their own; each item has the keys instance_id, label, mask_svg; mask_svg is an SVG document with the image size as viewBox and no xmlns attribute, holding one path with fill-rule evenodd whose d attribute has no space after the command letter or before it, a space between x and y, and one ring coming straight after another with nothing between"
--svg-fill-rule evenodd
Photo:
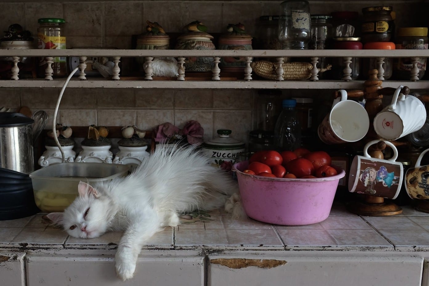
<instances>
[{"instance_id":1,"label":"clear plastic container of yellowish contents behind the cat's head","mask_svg":"<svg viewBox=\"0 0 429 286\"><path fill-rule=\"evenodd\" d=\"M78 195L80 181L97 183L126 176L129 165L104 163L61 163L30 173L36 206L44 212L61 212Z\"/></svg>"}]
</instances>

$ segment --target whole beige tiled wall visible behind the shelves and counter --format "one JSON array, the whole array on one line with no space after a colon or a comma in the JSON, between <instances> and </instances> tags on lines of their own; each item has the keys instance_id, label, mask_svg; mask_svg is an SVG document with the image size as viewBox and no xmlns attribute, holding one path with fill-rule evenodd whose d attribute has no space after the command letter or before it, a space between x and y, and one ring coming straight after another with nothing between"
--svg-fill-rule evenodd
<instances>
[{"instance_id":1,"label":"whole beige tiled wall visible behind the shelves and counter","mask_svg":"<svg viewBox=\"0 0 429 286\"><path fill-rule=\"evenodd\" d=\"M146 20L159 22L168 32L181 32L190 21L202 21L208 32L220 33L229 23L242 22L257 36L260 15L279 14L281 1L82 1L0 0L0 28L19 23L36 38L37 19L66 19L67 47L131 48L131 36L142 33ZM311 13L361 11L363 7L392 5L397 27L424 25L421 1L311 1ZM411 8L410 8L411 7ZM419 15L420 13L421 15ZM417 22L416 22L417 21ZM124 61L124 64L126 61ZM0 107L29 106L52 117L59 89L0 89ZM296 96L301 91L283 91ZM310 92L310 91L308 91ZM320 91L317 91L317 95ZM218 128L230 128L233 137L248 141L255 125L254 90L169 90L121 88L67 88L57 122L66 125L132 125L151 129L163 122L182 127L197 120L204 139L216 136ZM315 96L313 93L312 96ZM51 122L51 119L50 119Z\"/></svg>"}]
</instances>

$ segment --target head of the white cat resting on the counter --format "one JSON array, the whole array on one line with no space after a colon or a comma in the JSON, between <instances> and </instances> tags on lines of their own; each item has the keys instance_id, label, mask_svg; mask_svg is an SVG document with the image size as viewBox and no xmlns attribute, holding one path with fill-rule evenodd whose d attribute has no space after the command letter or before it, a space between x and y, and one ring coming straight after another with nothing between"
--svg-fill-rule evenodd
<instances>
[{"instance_id":1,"label":"head of the white cat resting on the counter","mask_svg":"<svg viewBox=\"0 0 429 286\"><path fill-rule=\"evenodd\" d=\"M79 197L64 210L50 213L48 218L63 225L67 233L78 238L94 238L106 232L106 213L109 202L100 197L94 188L79 183Z\"/></svg>"}]
</instances>

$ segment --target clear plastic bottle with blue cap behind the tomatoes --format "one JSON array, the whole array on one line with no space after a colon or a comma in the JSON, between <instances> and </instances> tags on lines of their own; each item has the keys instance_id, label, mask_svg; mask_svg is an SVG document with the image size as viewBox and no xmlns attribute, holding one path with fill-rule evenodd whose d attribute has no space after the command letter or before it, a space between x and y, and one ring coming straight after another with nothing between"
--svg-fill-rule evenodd
<instances>
[{"instance_id":1,"label":"clear plastic bottle with blue cap behind the tomatoes","mask_svg":"<svg viewBox=\"0 0 429 286\"><path fill-rule=\"evenodd\" d=\"M295 150L301 146L301 123L295 106L295 99L284 99L283 110L278 116L274 128L274 145L278 150Z\"/></svg>"}]
</instances>

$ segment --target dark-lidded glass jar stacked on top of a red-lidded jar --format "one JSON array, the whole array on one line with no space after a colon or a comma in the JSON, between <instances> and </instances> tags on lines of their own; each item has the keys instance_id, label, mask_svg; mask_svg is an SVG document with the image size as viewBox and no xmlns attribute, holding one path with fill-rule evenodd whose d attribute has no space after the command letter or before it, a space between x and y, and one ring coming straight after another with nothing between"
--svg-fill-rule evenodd
<instances>
[{"instance_id":1,"label":"dark-lidded glass jar stacked on top of a red-lidded jar","mask_svg":"<svg viewBox=\"0 0 429 286\"><path fill-rule=\"evenodd\" d=\"M332 12L333 37L359 37L359 13L355 11Z\"/></svg>"}]
</instances>

